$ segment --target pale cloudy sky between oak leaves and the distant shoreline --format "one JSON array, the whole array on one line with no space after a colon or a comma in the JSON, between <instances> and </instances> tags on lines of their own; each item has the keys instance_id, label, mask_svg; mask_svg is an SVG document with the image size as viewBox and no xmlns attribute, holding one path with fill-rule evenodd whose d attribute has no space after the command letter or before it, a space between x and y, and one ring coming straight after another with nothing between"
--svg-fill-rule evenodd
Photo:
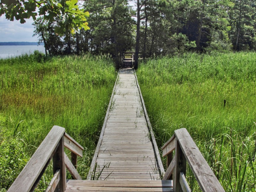
<instances>
[{"instance_id":1,"label":"pale cloudy sky between oak leaves and the distant shoreline","mask_svg":"<svg viewBox=\"0 0 256 192\"><path fill-rule=\"evenodd\" d=\"M20 21L10 21L5 16L0 17L0 42L28 41L37 42L37 37L33 37L34 26L33 19L27 19L26 23Z\"/></svg>"}]
</instances>

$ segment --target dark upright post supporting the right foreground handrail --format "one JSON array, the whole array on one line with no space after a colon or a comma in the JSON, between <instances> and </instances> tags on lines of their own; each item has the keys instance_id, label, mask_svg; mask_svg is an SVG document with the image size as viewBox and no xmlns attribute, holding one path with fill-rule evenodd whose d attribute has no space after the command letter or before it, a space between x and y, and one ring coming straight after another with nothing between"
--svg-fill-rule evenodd
<instances>
[{"instance_id":1,"label":"dark upright post supporting the right foreground handrail","mask_svg":"<svg viewBox=\"0 0 256 192\"><path fill-rule=\"evenodd\" d=\"M175 192L183 191L180 185L180 172L186 175L186 157L184 156L178 139L175 141L175 167L173 170L173 190Z\"/></svg>"}]
</instances>

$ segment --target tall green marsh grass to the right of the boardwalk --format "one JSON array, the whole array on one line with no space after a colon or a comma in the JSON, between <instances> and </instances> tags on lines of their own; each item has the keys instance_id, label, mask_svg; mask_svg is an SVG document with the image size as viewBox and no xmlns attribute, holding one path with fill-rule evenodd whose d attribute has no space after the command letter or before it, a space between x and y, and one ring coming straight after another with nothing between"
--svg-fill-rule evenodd
<instances>
[{"instance_id":1,"label":"tall green marsh grass to the right of the boardwalk","mask_svg":"<svg viewBox=\"0 0 256 192\"><path fill-rule=\"evenodd\" d=\"M256 53L188 53L137 70L158 146L187 128L226 191L256 188L255 63Z\"/></svg>"}]
</instances>

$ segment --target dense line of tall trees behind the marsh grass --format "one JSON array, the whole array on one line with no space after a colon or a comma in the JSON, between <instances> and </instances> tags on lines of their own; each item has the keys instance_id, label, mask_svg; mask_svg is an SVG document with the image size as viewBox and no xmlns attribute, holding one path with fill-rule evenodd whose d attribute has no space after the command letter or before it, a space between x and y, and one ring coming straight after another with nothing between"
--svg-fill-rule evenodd
<instances>
[{"instance_id":1,"label":"dense line of tall trees behind the marsh grass","mask_svg":"<svg viewBox=\"0 0 256 192\"><path fill-rule=\"evenodd\" d=\"M183 51L256 50L256 0L84 0L90 30L55 29L62 20L35 21L35 35L49 54L92 52L118 58Z\"/></svg>"}]
</instances>

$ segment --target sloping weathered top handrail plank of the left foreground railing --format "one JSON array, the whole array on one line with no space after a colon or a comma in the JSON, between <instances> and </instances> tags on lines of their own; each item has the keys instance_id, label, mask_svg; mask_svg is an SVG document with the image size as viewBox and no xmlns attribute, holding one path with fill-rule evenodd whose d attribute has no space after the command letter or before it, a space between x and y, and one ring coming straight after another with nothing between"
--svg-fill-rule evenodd
<instances>
[{"instance_id":1,"label":"sloping weathered top handrail plank of the left foreground railing","mask_svg":"<svg viewBox=\"0 0 256 192\"><path fill-rule=\"evenodd\" d=\"M29 159L19 176L12 183L9 192L30 191L38 179L45 165L49 163L52 153L58 146L65 129L59 126L53 126L43 142L37 148L34 155ZM39 178L40 179L40 178ZM38 180L39 181L39 180ZM36 187L36 186L35 186Z\"/></svg>"}]
</instances>

